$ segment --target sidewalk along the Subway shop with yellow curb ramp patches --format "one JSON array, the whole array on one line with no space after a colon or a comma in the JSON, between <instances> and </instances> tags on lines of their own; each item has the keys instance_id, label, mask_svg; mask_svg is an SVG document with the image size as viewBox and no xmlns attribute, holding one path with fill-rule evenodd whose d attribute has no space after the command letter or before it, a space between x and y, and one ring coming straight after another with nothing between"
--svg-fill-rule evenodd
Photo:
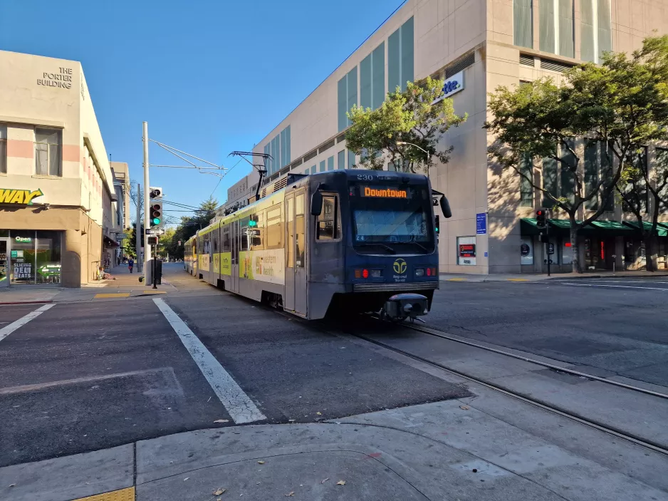
<instances>
[{"instance_id":1,"label":"sidewalk along the Subway shop with yellow curb ramp patches","mask_svg":"<svg viewBox=\"0 0 668 501\"><path fill-rule=\"evenodd\" d=\"M80 288L52 285L10 286L0 289L0 305L122 299L145 294L167 294L175 290L165 279L157 289L152 289L152 286L139 281L142 274L137 273L136 268L131 274L126 264L113 268L110 274L113 279L91 282Z\"/></svg>"}]
</instances>

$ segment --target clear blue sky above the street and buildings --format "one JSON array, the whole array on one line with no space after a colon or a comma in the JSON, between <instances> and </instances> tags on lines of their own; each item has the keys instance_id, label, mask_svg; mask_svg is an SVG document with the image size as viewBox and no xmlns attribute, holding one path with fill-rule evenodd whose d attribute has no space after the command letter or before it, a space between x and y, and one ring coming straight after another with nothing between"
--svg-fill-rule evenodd
<instances>
[{"instance_id":1,"label":"clear blue sky above the street and buildings","mask_svg":"<svg viewBox=\"0 0 668 501\"><path fill-rule=\"evenodd\" d=\"M232 150L251 150L400 3L1 0L0 49L80 61L107 153L143 182L142 120L150 138L231 167ZM223 202L244 163L215 191L194 170L155 168L150 184L187 205Z\"/></svg>"}]
</instances>

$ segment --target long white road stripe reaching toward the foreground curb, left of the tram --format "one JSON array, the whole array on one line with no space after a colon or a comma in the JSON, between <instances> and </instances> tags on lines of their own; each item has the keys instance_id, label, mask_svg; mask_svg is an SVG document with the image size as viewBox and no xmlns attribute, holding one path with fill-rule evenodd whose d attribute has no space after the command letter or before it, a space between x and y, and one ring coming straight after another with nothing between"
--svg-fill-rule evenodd
<instances>
[{"instance_id":1,"label":"long white road stripe reaching toward the foreground curb, left of the tram","mask_svg":"<svg viewBox=\"0 0 668 501\"><path fill-rule=\"evenodd\" d=\"M234 423L252 423L266 419L266 416L260 412L251 398L236 384L232 376L220 365L211 352L207 350L202 341L199 341L185 322L167 306L167 303L161 298L155 298L153 302L162 311L162 314L165 315L165 319L172 326L174 332L177 333L183 346L186 347L192 359L197 363L199 370L202 371L204 377L209 381L209 385L211 385L216 396L227 409Z\"/></svg>"}]
</instances>

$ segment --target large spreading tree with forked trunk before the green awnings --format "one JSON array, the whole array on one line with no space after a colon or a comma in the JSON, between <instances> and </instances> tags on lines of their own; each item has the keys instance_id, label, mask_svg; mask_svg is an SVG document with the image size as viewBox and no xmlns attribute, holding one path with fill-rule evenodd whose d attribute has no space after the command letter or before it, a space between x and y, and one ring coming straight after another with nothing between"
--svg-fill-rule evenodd
<instances>
[{"instance_id":1,"label":"large spreading tree with forked trunk before the green awnings","mask_svg":"<svg viewBox=\"0 0 668 501\"><path fill-rule=\"evenodd\" d=\"M659 78L659 65L660 71L653 71L650 62L663 50L664 43L657 40L647 38L646 50L631 56L606 53L602 66L585 63L573 68L560 85L547 78L514 89L500 87L491 95L489 110L494 117L484 127L496 135L496 141L489 156L518 172L544 199L566 212L574 272L582 272L578 230L606 210L615 185L629 166L630 152L667 138L667 81ZM586 138L585 147L599 145L601 164L607 166L600 179L586 179L574 138ZM550 174L546 165L554 175L560 166L560 192L536 182L523 170L523 160L536 157L544 160L543 177ZM598 198L597 209L578 219L584 214L583 206Z\"/></svg>"}]
</instances>

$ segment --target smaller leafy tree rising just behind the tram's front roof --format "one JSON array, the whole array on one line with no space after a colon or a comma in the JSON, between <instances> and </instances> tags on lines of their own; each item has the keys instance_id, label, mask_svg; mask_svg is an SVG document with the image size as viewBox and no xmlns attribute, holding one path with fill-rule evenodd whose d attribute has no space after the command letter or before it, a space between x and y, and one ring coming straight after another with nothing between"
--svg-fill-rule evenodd
<instances>
[{"instance_id":1,"label":"smaller leafy tree rising just behind the tram's front roof","mask_svg":"<svg viewBox=\"0 0 668 501\"><path fill-rule=\"evenodd\" d=\"M428 172L434 165L432 157L447 163L453 147L439 149L439 139L468 115L454 113L452 99L444 98L443 84L427 77L409 82L403 92L397 87L376 110L353 106L345 140L361 156L359 165L382 170L389 160L397 170Z\"/></svg>"}]
</instances>

